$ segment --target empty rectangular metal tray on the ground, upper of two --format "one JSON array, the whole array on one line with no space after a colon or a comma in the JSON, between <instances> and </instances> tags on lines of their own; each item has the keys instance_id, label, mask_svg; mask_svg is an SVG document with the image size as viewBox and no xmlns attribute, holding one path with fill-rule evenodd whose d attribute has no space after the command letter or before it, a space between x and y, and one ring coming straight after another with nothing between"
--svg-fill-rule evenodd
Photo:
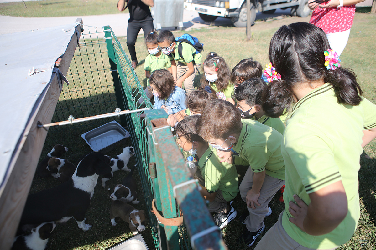
<instances>
[{"instance_id":1,"label":"empty rectangular metal tray on the ground, upper of two","mask_svg":"<svg viewBox=\"0 0 376 250\"><path fill-rule=\"evenodd\" d=\"M83 133L82 138L94 151L109 151L121 140L130 136L129 132L117 121L110 121L102 126Z\"/></svg>"}]
</instances>

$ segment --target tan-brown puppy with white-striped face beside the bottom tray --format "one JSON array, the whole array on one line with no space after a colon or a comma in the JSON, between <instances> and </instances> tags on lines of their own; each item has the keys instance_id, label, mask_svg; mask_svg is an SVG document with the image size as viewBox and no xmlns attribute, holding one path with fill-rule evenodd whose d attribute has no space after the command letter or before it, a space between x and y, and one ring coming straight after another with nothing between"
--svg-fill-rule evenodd
<instances>
[{"instance_id":1,"label":"tan-brown puppy with white-striped face beside the bottom tray","mask_svg":"<svg viewBox=\"0 0 376 250\"><path fill-rule=\"evenodd\" d=\"M115 218L120 217L129 224L133 235L145 230L145 211L137 210L122 201L112 201L110 219L112 226L116 226Z\"/></svg>"}]
</instances>

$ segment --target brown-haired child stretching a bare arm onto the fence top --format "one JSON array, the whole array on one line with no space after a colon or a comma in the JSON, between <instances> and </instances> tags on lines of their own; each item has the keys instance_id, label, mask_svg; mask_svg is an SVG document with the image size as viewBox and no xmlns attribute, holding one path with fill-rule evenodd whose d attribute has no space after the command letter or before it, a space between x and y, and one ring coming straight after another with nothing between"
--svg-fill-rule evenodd
<instances>
[{"instance_id":1,"label":"brown-haired child stretching a bare arm onto the fence top","mask_svg":"<svg viewBox=\"0 0 376 250\"><path fill-rule=\"evenodd\" d=\"M200 115L205 106L217 96L212 94L209 86L205 86L205 89L192 91L185 99L186 109L183 109L176 114L169 115L167 123L171 127L176 123L183 120L186 116Z\"/></svg>"}]
</instances>

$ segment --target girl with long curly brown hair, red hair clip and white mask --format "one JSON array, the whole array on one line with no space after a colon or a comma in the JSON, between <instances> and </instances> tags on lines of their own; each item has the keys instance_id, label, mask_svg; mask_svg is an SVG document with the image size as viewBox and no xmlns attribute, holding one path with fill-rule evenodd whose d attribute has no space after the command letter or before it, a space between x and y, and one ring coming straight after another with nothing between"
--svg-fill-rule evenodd
<instances>
[{"instance_id":1,"label":"girl with long curly brown hair, red hair clip and white mask","mask_svg":"<svg viewBox=\"0 0 376 250\"><path fill-rule=\"evenodd\" d=\"M218 98L227 100L232 104L233 85L230 84L230 70L226 61L215 52L209 52L204 63L205 76L201 77L202 87L209 85Z\"/></svg>"}]
</instances>

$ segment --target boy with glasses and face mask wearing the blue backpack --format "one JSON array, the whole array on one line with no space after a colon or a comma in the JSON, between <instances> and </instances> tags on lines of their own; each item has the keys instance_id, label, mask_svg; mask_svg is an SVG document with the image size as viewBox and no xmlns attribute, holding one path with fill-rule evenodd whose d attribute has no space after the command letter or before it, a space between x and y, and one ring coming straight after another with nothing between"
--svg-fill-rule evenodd
<instances>
[{"instance_id":1,"label":"boy with glasses and face mask wearing the blue backpack","mask_svg":"<svg viewBox=\"0 0 376 250\"><path fill-rule=\"evenodd\" d=\"M182 88L184 82L185 92L190 94L193 91L193 82L201 64L201 53L196 54L196 49L185 42L182 42L182 57L177 52L179 42L175 41L173 33L169 30L162 30L158 36L158 45L162 53L169 55L172 63L172 72L176 86Z\"/></svg>"}]
</instances>

